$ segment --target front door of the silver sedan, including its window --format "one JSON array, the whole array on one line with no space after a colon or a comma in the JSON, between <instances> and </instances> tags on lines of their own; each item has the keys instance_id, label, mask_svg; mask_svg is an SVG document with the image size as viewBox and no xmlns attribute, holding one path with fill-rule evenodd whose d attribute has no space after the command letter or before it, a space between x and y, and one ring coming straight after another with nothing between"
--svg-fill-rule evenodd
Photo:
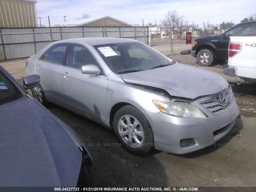
<instances>
[{"instance_id":1,"label":"front door of the silver sedan, including its window","mask_svg":"<svg viewBox=\"0 0 256 192\"><path fill-rule=\"evenodd\" d=\"M92 118L106 121L107 77L103 74L82 74L81 67L98 61L88 48L71 44L66 66L62 69L62 90L65 105Z\"/></svg>"}]
</instances>

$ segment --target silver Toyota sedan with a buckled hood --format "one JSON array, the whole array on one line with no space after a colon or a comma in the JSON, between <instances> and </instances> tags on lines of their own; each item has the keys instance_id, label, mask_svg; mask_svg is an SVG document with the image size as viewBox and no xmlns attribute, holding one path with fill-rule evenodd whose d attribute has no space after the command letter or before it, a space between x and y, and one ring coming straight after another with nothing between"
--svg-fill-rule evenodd
<instances>
[{"instance_id":1,"label":"silver Toyota sedan with a buckled hood","mask_svg":"<svg viewBox=\"0 0 256 192\"><path fill-rule=\"evenodd\" d=\"M153 148L185 154L213 144L234 126L238 106L216 73L174 62L136 40L76 38L28 58L26 76L42 104L58 104L114 130L137 155Z\"/></svg>"}]
</instances>

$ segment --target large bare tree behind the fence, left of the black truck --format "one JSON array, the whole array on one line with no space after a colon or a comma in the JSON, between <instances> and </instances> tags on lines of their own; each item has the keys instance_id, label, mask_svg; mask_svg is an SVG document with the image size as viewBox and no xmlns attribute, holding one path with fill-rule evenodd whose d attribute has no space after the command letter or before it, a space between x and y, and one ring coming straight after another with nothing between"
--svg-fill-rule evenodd
<instances>
[{"instance_id":1,"label":"large bare tree behind the fence, left of the black truck","mask_svg":"<svg viewBox=\"0 0 256 192\"><path fill-rule=\"evenodd\" d=\"M180 16L176 10L170 10L166 14L164 20L161 20L161 24L164 28L173 30L174 28L179 29L177 32L178 38L182 38L182 29L186 26L185 16Z\"/></svg>"}]
</instances>

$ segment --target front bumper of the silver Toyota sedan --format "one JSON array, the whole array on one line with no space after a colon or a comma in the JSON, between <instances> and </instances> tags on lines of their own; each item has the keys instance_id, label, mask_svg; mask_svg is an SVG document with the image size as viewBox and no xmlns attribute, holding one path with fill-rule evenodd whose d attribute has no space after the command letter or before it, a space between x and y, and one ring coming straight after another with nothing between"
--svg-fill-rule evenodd
<instances>
[{"instance_id":1,"label":"front bumper of the silver Toyota sedan","mask_svg":"<svg viewBox=\"0 0 256 192\"><path fill-rule=\"evenodd\" d=\"M212 96L191 103L200 108L208 118L181 118L162 112L144 112L154 132L155 148L174 154L186 154L210 146L223 138L230 132L240 113L231 88L229 92L231 98L224 110L213 112L200 104L206 100L216 101Z\"/></svg>"}]
</instances>

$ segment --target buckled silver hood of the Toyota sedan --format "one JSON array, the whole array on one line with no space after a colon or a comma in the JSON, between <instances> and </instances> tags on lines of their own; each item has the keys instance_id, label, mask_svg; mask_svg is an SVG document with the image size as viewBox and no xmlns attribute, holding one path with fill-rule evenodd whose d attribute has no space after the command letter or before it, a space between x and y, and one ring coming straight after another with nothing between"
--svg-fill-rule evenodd
<instances>
[{"instance_id":1,"label":"buckled silver hood of the Toyota sedan","mask_svg":"<svg viewBox=\"0 0 256 192\"><path fill-rule=\"evenodd\" d=\"M161 88L171 96L194 99L228 87L220 75L176 63L170 66L120 75L125 82Z\"/></svg>"}]
</instances>

